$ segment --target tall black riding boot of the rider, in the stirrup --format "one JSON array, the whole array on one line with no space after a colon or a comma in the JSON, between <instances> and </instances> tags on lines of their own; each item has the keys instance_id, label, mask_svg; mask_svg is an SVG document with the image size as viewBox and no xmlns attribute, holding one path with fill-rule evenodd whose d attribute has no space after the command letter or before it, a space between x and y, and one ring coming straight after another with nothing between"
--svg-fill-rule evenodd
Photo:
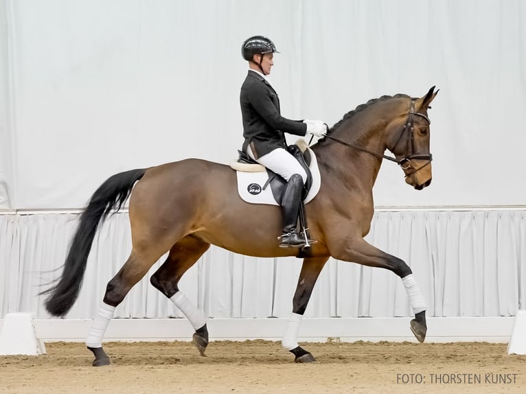
<instances>
[{"instance_id":1,"label":"tall black riding boot of the rider, in the stirrup","mask_svg":"<svg viewBox=\"0 0 526 394\"><path fill-rule=\"evenodd\" d=\"M283 230L282 236L278 237L281 248L305 245L304 237L301 237L296 229L303 187L304 181L301 175L290 176L282 197Z\"/></svg>"}]
</instances>

